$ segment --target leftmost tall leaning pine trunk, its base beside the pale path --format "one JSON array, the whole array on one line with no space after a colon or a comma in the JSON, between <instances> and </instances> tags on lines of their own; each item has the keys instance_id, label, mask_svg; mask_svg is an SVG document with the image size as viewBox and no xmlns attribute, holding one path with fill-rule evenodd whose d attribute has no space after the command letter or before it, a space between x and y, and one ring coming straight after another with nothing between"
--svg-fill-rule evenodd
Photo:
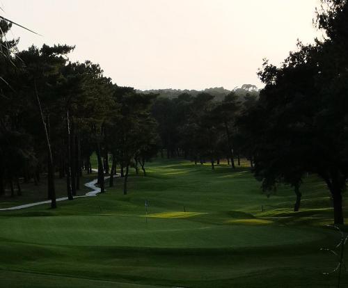
<instances>
[{"instance_id":1,"label":"leftmost tall leaning pine trunk, its base beside the pale path","mask_svg":"<svg viewBox=\"0 0 348 288\"><path fill-rule=\"evenodd\" d=\"M42 109L41 109L41 103L40 103L40 98L38 95L38 89L36 88L36 81L34 81L35 83L35 94L36 94L36 99L38 100L38 107L40 110L40 115L41 115L41 121L42 121L42 125L44 127L44 131L45 131L45 136L46 136L46 145L47 145L47 189L48 189L48 195L51 198L51 208L55 209L57 207L56 205L56 190L54 188L54 166L53 166L53 158L52 158L52 150L51 150L51 143L49 142L49 131L47 131L47 129L49 129L49 125L47 125L47 123L45 123L45 118L44 115L42 113ZM47 116L48 119L48 116Z\"/></svg>"}]
</instances>

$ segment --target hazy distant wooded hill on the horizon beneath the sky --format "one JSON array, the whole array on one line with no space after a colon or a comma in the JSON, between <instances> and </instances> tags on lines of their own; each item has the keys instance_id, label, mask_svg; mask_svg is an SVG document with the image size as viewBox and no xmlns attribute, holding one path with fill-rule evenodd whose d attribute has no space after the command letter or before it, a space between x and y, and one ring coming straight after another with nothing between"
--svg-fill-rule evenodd
<instances>
[{"instance_id":1,"label":"hazy distant wooded hill on the horizon beneath the sky","mask_svg":"<svg viewBox=\"0 0 348 288\"><path fill-rule=\"evenodd\" d=\"M177 98L179 95L183 94L183 93L188 93L192 96L196 96L199 93L209 93L210 95L213 95L215 97L216 101L222 101L223 98L230 94L231 92L235 92L235 94L240 97L240 98L244 98L246 95L251 95L254 97L258 97L259 93L260 93L260 89L258 89L258 87L256 87L255 85L251 85L251 84L244 84L242 87L240 88L235 88L233 90L228 90L225 89L223 87L215 87L215 88L207 88L205 90L180 90L180 89L157 89L157 90L136 90L137 93L145 93L145 94L150 94L150 93L154 93L154 94L159 94L159 97L164 97L164 98L168 98L168 99L173 99L173 98Z\"/></svg>"}]
</instances>

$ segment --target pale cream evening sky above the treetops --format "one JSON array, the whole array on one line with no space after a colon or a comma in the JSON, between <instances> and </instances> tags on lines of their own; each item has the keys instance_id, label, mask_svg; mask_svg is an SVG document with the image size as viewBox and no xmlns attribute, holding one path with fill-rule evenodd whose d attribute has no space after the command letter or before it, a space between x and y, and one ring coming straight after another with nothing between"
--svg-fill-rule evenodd
<instances>
[{"instance_id":1,"label":"pale cream evening sky above the treetops","mask_svg":"<svg viewBox=\"0 0 348 288\"><path fill-rule=\"evenodd\" d=\"M0 0L20 49L76 45L73 61L100 63L120 86L262 86L262 58L279 64L296 39L313 42L318 0Z\"/></svg>"}]
</instances>

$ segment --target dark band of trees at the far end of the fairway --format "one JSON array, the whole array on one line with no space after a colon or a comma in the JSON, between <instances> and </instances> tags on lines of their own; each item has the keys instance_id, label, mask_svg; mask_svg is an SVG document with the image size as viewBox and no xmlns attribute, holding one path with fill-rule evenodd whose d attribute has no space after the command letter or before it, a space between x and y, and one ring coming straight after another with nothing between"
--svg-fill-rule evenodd
<instances>
[{"instance_id":1,"label":"dark band of trees at the far end of the fairway","mask_svg":"<svg viewBox=\"0 0 348 288\"><path fill-rule=\"evenodd\" d=\"M164 157L185 157L203 163L228 159L235 167L241 155L252 161L246 135L239 133L237 119L258 99L258 94L238 96L231 91L217 101L210 93L182 93L168 99L159 97L152 106L152 115L159 124L161 154Z\"/></svg>"}]
</instances>

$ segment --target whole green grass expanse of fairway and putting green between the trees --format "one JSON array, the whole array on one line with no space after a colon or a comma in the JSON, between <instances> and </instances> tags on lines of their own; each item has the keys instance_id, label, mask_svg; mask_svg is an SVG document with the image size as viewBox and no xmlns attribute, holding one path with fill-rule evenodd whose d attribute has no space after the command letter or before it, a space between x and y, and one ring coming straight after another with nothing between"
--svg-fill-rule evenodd
<instances>
[{"instance_id":1,"label":"whole green grass expanse of fairway and putting green between the trees","mask_svg":"<svg viewBox=\"0 0 348 288\"><path fill-rule=\"evenodd\" d=\"M0 212L0 285L334 287L321 275L333 257L319 248L338 237L323 227L331 203L315 177L298 214L291 189L267 198L248 168L159 161L130 178L129 195L121 186L55 211Z\"/></svg>"}]
</instances>

